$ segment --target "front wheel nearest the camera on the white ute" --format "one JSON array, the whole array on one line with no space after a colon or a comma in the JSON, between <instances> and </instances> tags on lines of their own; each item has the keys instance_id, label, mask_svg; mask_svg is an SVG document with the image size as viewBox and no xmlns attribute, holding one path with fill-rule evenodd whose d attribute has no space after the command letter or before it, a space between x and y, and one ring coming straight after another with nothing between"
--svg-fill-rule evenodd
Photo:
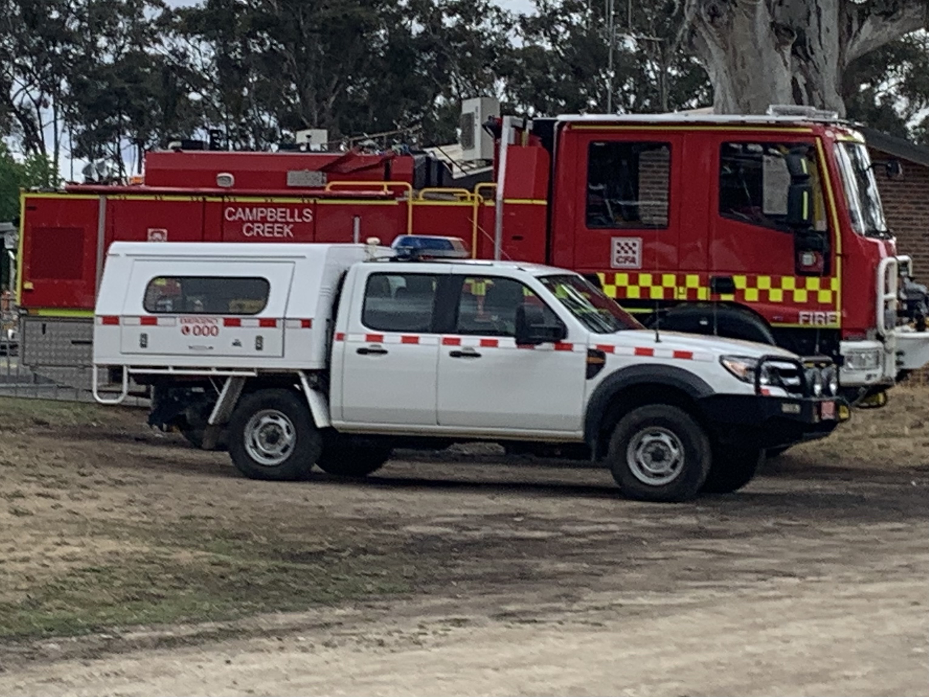
<instances>
[{"instance_id":1,"label":"front wheel nearest the camera on the white ute","mask_svg":"<svg viewBox=\"0 0 929 697\"><path fill-rule=\"evenodd\" d=\"M710 440L690 414L648 404L622 417L607 455L622 493L642 501L687 501L710 471Z\"/></svg>"}]
</instances>

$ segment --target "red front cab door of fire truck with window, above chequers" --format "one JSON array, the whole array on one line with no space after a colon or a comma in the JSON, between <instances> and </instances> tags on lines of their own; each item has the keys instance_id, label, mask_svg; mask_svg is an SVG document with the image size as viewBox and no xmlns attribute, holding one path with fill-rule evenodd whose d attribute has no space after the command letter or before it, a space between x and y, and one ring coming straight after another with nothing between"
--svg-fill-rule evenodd
<instances>
[{"instance_id":1,"label":"red front cab door of fire truck with window, above chequers","mask_svg":"<svg viewBox=\"0 0 929 697\"><path fill-rule=\"evenodd\" d=\"M793 287L794 236L786 225L791 175L784 157L790 151L807 152L814 189L814 227L828 230L812 140L803 142L801 138L785 138L783 134L743 138L721 135L713 152L709 255L709 274L718 278L719 283L760 276L765 279L763 286L776 282L779 288L780 280L786 279L785 288ZM818 273L805 275L822 275L825 270L824 267Z\"/></svg>"}]
</instances>

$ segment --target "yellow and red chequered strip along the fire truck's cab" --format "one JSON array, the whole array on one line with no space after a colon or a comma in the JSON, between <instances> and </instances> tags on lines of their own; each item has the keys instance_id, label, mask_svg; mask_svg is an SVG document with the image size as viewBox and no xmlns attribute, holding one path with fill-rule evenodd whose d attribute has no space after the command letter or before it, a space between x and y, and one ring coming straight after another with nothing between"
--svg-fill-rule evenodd
<instances>
[{"instance_id":1,"label":"yellow and red chequered strip along the fire truck's cab","mask_svg":"<svg viewBox=\"0 0 929 697\"><path fill-rule=\"evenodd\" d=\"M609 271L598 273L604 292L621 300L709 300L710 278L702 273L645 273ZM789 303L834 306L839 296L838 278L818 276L737 275L734 294L720 300L744 303Z\"/></svg>"}]
</instances>

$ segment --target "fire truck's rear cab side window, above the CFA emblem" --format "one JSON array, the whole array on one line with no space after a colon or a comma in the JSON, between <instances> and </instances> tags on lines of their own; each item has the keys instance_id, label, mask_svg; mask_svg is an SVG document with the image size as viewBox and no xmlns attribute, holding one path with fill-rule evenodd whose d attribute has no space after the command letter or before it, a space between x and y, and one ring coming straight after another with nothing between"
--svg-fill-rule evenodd
<instances>
[{"instance_id":1,"label":"fire truck's rear cab side window, above the CFA emblem","mask_svg":"<svg viewBox=\"0 0 929 697\"><path fill-rule=\"evenodd\" d=\"M587 227L668 227L671 144L597 141L587 152Z\"/></svg>"}]
</instances>

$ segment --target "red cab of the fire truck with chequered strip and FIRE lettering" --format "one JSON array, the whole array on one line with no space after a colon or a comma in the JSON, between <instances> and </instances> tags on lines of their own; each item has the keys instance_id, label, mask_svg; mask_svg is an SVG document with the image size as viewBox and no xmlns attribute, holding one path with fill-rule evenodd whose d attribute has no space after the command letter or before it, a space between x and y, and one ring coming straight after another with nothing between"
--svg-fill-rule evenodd
<instances>
[{"instance_id":1,"label":"red cab of the fire truck with chequered strip and FIRE lettering","mask_svg":"<svg viewBox=\"0 0 929 697\"><path fill-rule=\"evenodd\" d=\"M504 118L504 200L534 169L547 234L504 218L493 255L578 270L648 326L829 355L851 401L881 403L929 362L926 289L864 138L801 114Z\"/></svg>"}]
</instances>

